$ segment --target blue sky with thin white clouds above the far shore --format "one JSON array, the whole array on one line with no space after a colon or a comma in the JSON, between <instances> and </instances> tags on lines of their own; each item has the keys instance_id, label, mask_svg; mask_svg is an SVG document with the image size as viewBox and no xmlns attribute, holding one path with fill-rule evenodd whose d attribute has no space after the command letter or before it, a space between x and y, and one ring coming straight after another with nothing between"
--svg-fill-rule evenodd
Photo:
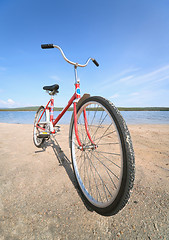
<instances>
[{"instance_id":1,"label":"blue sky with thin white clouds above the far shore","mask_svg":"<svg viewBox=\"0 0 169 240\"><path fill-rule=\"evenodd\" d=\"M0 0L0 107L45 104L44 85L58 83L57 106L74 92L101 95L116 106L169 106L169 1Z\"/></svg>"}]
</instances>

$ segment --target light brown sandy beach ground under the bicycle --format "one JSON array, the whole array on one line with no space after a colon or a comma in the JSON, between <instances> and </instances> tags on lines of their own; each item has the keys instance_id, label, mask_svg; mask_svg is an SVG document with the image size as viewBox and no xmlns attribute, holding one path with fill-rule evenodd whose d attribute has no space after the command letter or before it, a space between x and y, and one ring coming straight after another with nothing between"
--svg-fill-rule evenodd
<instances>
[{"instance_id":1,"label":"light brown sandy beach ground under the bicycle","mask_svg":"<svg viewBox=\"0 0 169 240\"><path fill-rule=\"evenodd\" d=\"M0 240L168 239L169 125L129 125L135 185L111 217L92 211L77 190L68 129L38 149L32 125L0 124Z\"/></svg>"}]
</instances>

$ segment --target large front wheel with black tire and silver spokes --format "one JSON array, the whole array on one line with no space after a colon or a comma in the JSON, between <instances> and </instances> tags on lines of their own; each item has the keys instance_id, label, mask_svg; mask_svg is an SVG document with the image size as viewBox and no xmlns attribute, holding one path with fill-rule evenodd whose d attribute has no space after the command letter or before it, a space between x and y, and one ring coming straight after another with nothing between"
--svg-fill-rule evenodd
<instances>
[{"instance_id":1,"label":"large front wheel with black tire and silver spokes","mask_svg":"<svg viewBox=\"0 0 169 240\"><path fill-rule=\"evenodd\" d=\"M74 123L70 146L79 189L96 212L115 214L128 202L134 183L135 160L128 128L118 109L102 97L85 99L77 108L77 122L83 147L78 145Z\"/></svg>"}]
</instances>

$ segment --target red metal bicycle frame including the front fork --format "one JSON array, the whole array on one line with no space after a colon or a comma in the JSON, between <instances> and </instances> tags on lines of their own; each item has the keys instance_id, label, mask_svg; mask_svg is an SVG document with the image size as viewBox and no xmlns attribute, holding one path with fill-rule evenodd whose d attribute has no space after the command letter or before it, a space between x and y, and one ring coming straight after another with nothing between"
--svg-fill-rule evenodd
<instances>
[{"instance_id":1,"label":"red metal bicycle frame including the front fork","mask_svg":"<svg viewBox=\"0 0 169 240\"><path fill-rule=\"evenodd\" d=\"M77 78L77 67L75 66L75 93L73 94L73 96L70 98L70 100L68 101L68 104L66 105L66 107L61 111L61 113L56 117L56 119L53 118L53 113L54 113L54 97L52 96L51 99L49 100L49 102L47 103L44 111L42 112L39 121L37 122L37 128L40 128L41 130L45 131L45 128L39 126L39 122L43 116L43 114L46 111L49 111L50 113L50 119L48 119L48 123L50 124L50 133L54 134L56 133L54 128L56 126L56 124L59 122L59 120L63 117L63 115L65 114L65 112L69 109L69 107L72 105L73 103L73 112L74 112L74 127L75 127L75 135L76 135L76 139L77 142L79 144L79 148L83 150L83 146L82 143L80 141L79 138L79 134L78 134L78 126L77 126L77 102L78 100L81 98L80 96L80 81ZM50 105L50 107L49 107ZM89 133L89 129L88 129L88 123L87 123L87 116L86 116L86 109L83 110L83 114L84 114L84 121L85 121L85 129L86 129L86 133L87 136L90 140L90 142L92 143L92 145L94 145L94 147L96 148L95 143L93 142L90 133Z\"/></svg>"}]
</instances>

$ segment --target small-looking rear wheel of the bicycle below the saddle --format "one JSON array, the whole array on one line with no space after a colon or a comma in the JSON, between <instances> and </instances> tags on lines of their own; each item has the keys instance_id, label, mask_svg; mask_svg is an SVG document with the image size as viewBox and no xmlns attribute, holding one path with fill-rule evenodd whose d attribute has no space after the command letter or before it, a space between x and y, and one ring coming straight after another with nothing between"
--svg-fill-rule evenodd
<instances>
[{"instance_id":1,"label":"small-looking rear wheel of the bicycle below the saddle","mask_svg":"<svg viewBox=\"0 0 169 240\"><path fill-rule=\"evenodd\" d=\"M44 111L44 107L41 106L37 110L36 115L35 115L35 121L34 121L34 127L33 127L33 142L36 147L41 147L45 141L45 138L39 138L40 132L42 132L42 130L40 130L40 128L37 127L37 123L38 123L39 118L41 117L43 111ZM39 126L45 128L45 122L46 122L46 113L44 112L44 114L39 122Z\"/></svg>"}]
</instances>

